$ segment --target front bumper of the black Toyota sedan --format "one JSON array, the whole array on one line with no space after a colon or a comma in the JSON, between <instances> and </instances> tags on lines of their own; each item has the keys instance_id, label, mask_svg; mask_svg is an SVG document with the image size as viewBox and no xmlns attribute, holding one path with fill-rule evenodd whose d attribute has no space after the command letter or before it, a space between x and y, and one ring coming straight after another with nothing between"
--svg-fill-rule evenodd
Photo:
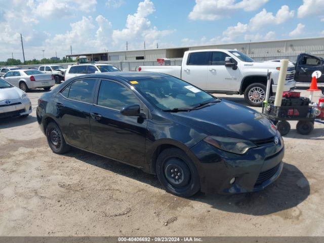
<instances>
[{"instance_id":1,"label":"front bumper of the black Toyota sedan","mask_svg":"<svg viewBox=\"0 0 324 243\"><path fill-rule=\"evenodd\" d=\"M285 148L280 139L278 145L266 144L238 155L201 141L191 151L199 160L201 191L233 194L262 190L274 182L283 168Z\"/></svg>"}]
</instances>

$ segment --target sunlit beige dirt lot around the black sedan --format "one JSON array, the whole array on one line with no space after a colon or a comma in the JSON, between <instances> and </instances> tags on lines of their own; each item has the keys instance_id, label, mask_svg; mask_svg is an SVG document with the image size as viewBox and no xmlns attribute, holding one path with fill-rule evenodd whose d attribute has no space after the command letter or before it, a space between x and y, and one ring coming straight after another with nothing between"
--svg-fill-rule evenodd
<instances>
[{"instance_id":1,"label":"sunlit beige dirt lot around the black sedan","mask_svg":"<svg viewBox=\"0 0 324 243\"><path fill-rule=\"evenodd\" d=\"M42 93L28 93L28 118L0 121L0 235L324 235L323 124L302 136L291 123L284 171L264 191L185 199L130 166L52 153L36 123Z\"/></svg>"}]
</instances>

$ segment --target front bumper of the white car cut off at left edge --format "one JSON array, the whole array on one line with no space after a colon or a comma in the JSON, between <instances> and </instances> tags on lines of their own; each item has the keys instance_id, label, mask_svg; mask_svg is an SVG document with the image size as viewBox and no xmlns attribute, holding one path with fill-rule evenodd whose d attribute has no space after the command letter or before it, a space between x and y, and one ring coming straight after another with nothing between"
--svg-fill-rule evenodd
<instances>
[{"instance_id":1,"label":"front bumper of the white car cut off at left edge","mask_svg":"<svg viewBox=\"0 0 324 243\"><path fill-rule=\"evenodd\" d=\"M9 105L0 104L0 118L8 118L30 114L32 111L30 100L10 100Z\"/></svg>"}]
</instances>

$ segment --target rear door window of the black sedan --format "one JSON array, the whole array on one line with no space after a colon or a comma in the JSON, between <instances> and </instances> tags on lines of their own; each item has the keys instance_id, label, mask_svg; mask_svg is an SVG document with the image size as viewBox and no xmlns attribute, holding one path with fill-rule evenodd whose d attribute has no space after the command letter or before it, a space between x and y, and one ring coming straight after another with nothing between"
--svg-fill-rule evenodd
<instances>
[{"instance_id":1,"label":"rear door window of the black sedan","mask_svg":"<svg viewBox=\"0 0 324 243\"><path fill-rule=\"evenodd\" d=\"M96 79L76 80L71 84L68 98L75 101L92 103Z\"/></svg>"}]
</instances>

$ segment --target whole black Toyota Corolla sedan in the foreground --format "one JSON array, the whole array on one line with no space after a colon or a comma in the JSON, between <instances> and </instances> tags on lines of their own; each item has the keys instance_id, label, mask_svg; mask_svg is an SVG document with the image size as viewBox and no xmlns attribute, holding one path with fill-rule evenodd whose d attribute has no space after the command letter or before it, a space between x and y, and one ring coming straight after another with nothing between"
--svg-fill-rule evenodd
<instances>
[{"instance_id":1,"label":"whole black Toyota Corolla sedan in the foreground","mask_svg":"<svg viewBox=\"0 0 324 243\"><path fill-rule=\"evenodd\" d=\"M282 170L284 142L266 117L167 74L71 78L38 100L37 121L54 153L132 165L180 196L261 190Z\"/></svg>"}]
</instances>

